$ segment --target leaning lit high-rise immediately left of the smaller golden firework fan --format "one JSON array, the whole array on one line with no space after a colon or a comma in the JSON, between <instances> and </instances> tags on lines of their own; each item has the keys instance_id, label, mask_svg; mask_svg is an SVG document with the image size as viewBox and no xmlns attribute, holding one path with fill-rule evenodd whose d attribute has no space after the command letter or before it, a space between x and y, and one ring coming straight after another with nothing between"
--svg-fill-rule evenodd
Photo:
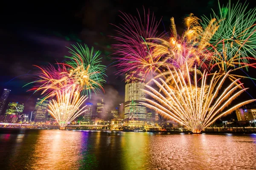
<instances>
[{"instance_id":1,"label":"leaning lit high-rise immediately left of the smaller golden firework fan","mask_svg":"<svg viewBox=\"0 0 256 170\"><path fill-rule=\"evenodd\" d=\"M38 98L35 104L35 109L32 114L32 122L46 122L48 118L48 104L49 100Z\"/></svg>"}]
</instances>

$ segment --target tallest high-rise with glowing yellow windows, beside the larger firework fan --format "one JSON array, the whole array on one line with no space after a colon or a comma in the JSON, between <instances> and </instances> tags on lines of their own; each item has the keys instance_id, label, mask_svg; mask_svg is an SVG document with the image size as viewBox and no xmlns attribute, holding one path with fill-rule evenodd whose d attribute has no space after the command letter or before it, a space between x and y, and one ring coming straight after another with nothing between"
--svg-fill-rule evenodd
<instances>
[{"instance_id":1,"label":"tallest high-rise with glowing yellow windows, beside the larger firework fan","mask_svg":"<svg viewBox=\"0 0 256 170\"><path fill-rule=\"evenodd\" d=\"M145 77L142 72L130 72L125 75L125 122L130 120L146 121Z\"/></svg>"}]
</instances>

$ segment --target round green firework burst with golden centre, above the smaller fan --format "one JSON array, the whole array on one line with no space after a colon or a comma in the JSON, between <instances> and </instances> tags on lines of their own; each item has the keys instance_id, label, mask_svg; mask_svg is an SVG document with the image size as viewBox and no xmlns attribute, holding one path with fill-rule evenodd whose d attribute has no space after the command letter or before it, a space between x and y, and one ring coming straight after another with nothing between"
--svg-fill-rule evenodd
<instances>
[{"instance_id":1,"label":"round green firework burst with golden centre, above the smaller fan","mask_svg":"<svg viewBox=\"0 0 256 170\"><path fill-rule=\"evenodd\" d=\"M89 49L87 45L84 47L78 44L72 45L70 49L70 57L64 64L68 68L65 72L67 77L73 79L73 82L79 86L81 93L91 96L92 92L99 92L103 89L102 85L105 83L104 76L106 66L101 65L101 58L99 58L99 51L93 52L93 47Z\"/></svg>"}]
</instances>

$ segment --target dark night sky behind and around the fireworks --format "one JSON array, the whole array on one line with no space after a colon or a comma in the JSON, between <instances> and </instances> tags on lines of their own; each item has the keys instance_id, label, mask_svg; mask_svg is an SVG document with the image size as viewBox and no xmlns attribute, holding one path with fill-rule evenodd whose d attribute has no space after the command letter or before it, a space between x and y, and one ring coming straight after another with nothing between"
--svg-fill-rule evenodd
<instances>
[{"instance_id":1,"label":"dark night sky behind and around the fireworks","mask_svg":"<svg viewBox=\"0 0 256 170\"><path fill-rule=\"evenodd\" d=\"M226 2L227 0L221 0L221 3ZM247 2L249 7L255 7L253 0ZM143 12L143 6L154 12L157 20L162 17L159 32L165 29L169 31L170 17L175 17L177 28L182 32L183 17L190 13L198 17L209 15L211 8L218 8L218 1L137 0L134 3L131 0L52 0L3 3L0 11L0 94L3 88L11 89L8 102L24 103L25 113L31 112L40 95L32 95L31 92L26 92L30 86L22 86L33 79L35 67L32 65L63 61L64 55L68 54L65 46L69 47L76 42L102 51L103 64L110 65L115 57L110 55L112 50L109 47L115 43L108 37L115 35L114 26L110 23L118 25L122 22L119 11L136 15L136 8ZM104 97L113 106L124 102L125 89L122 81L124 77L117 77L113 74L114 71L115 67L108 67ZM102 97L101 94L93 96L92 102L95 103Z\"/></svg>"}]
</instances>

